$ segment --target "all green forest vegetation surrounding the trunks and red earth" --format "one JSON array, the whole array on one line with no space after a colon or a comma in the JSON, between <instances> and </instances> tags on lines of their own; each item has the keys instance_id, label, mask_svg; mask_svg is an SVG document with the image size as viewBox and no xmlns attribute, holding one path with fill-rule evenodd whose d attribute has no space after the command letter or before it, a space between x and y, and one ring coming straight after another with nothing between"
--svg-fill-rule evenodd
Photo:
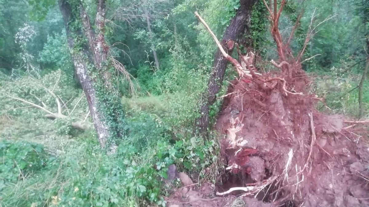
<instances>
[{"instance_id":1,"label":"all green forest vegetation surrounding the trunks and red earth","mask_svg":"<svg viewBox=\"0 0 369 207\"><path fill-rule=\"evenodd\" d=\"M107 46L102 64L86 55L93 47L80 29L83 19L65 24L61 2L0 0L0 206L165 206L164 197L180 185L162 182L171 164L199 183L218 181L221 136L194 132L217 46L193 13L220 38L240 1L108 0L103 28L92 27ZM69 2L74 15L81 4L98 22L97 1ZM256 1L240 40L251 41L271 71L269 60L278 57L266 15ZM293 51L304 45L313 16L314 25L330 18L302 58L312 90L326 99L327 107L317 108L368 118L369 2L288 1L279 27L285 37L295 29ZM77 58L96 80L97 108L114 131L106 146L75 71ZM218 97L235 74L228 65ZM210 106L211 124L221 103Z\"/></svg>"}]
</instances>

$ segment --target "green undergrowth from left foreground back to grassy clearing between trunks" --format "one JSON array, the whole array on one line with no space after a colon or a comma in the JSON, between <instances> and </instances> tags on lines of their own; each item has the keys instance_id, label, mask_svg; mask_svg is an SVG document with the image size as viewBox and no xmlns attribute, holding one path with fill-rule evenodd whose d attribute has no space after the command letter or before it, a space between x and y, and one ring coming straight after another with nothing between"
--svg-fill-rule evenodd
<instances>
[{"instance_id":1,"label":"green undergrowth from left foreground back to grassy clearing between trunks","mask_svg":"<svg viewBox=\"0 0 369 207\"><path fill-rule=\"evenodd\" d=\"M194 182L215 182L218 139L192 136L193 99L185 93L123 98L130 136L113 155L100 150L93 129L56 133L58 120L40 118L37 110L27 119L3 114L1 206L165 206L163 196L178 186L162 181L171 164Z\"/></svg>"}]
</instances>

